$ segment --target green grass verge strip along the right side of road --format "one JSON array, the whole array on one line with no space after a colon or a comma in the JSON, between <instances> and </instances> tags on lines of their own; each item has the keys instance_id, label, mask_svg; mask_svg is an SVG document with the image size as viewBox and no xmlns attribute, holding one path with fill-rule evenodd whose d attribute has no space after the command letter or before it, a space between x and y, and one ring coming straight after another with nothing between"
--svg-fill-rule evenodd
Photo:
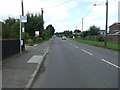
<instances>
[{"instance_id":1,"label":"green grass verge strip along the right side of road","mask_svg":"<svg viewBox=\"0 0 120 90\"><path fill-rule=\"evenodd\" d=\"M97 42L97 41L90 41L90 40L80 40L80 39L71 39L71 40L81 42L81 43L85 43L85 44L89 44L89 45L100 46L100 47L120 51L120 44L116 44L116 43L107 43L107 46L105 47L104 42Z\"/></svg>"}]
</instances>

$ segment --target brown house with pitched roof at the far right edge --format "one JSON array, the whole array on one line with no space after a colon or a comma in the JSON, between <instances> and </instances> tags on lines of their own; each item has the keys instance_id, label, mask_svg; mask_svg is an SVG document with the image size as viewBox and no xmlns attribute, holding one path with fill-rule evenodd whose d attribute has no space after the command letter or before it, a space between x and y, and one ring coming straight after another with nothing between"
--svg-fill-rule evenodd
<instances>
[{"instance_id":1,"label":"brown house with pitched roof at the far right edge","mask_svg":"<svg viewBox=\"0 0 120 90\"><path fill-rule=\"evenodd\" d=\"M113 23L109 26L110 35L120 35L120 22Z\"/></svg>"}]
</instances>

